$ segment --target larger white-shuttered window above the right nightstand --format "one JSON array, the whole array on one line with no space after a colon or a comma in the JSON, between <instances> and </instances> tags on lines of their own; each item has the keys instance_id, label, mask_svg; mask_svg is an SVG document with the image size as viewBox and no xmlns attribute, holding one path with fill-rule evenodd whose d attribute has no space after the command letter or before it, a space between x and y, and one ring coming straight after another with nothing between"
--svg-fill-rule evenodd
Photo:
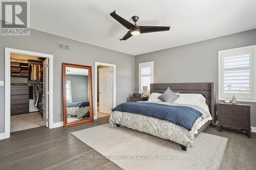
<instances>
[{"instance_id":1,"label":"larger white-shuttered window above the right nightstand","mask_svg":"<svg viewBox=\"0 0 256 170\"><path fill-rule=\"evenodd\" d=\"M256 102L256 45L219 51L219 100Z\"/></svg>"}]
</instances>

